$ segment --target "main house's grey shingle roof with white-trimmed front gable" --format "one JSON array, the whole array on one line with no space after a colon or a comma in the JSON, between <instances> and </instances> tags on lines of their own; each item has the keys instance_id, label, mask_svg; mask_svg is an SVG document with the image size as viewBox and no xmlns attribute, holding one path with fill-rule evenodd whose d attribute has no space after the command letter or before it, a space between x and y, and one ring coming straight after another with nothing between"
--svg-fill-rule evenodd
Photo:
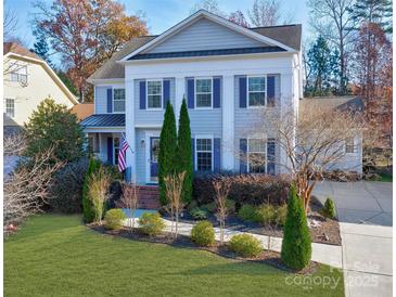
<instances>
[{"instance_id":1,"label":"main house's grey shingle roof with white-trimmed front gable","mask_svg":"<svg viewBox=\"0 0 396 297\"><path fill-rule=\"evenodd\" d=\"M207 51L191 51L191 52L167 52L167 53L152 53L152 54L139 54L136 55L135 59L131 57L131 53L137 52L138 50L143 50L143 47L150 47L158 41L158 39L164 35L169 33L170 30L175 30L175 27L179 26L181 23L192 22L192 17L209 17L210 20L221 21L221 23L226 23L228 26L231 26L233 29L238 28L239 31L243 30L243 33L251 33L255 35L256 38L264 38L266 41L269 40L269 43L272 46L273 42L276 46L272 47L263 47L263 48L248 48L248 49L229 49L229 50L207 50ZM283 25L283 26L270 26L270 27L256 27L256 28L245 28L239 26L232 22L229 22L226 18L214 15L206 11L199 11L190 17L186 18L181 23L175 25L167 31L162 35L156 36L143 36L133 38L132 40L125 43L125 46L113 56L105 62L93 75L91 75L88 81L93 82L93 80L100 79L124 79L125 78L125 69L124 64L118 63L118 61L127 61L129 57L131 60L140 60L140 59L162 59L162 57L178 57L178 56L207 56L207 55L218 55L218 54L238 54L238 53L257 53L257 52L286 52L289 50L299 51L301 50L301 40L302 40L302 25ZM161 40L159 40L161 41ZM264 40L261 40L264 42ZM264 49L266 48L266 49Z\"/></svg>"}]
</instances>

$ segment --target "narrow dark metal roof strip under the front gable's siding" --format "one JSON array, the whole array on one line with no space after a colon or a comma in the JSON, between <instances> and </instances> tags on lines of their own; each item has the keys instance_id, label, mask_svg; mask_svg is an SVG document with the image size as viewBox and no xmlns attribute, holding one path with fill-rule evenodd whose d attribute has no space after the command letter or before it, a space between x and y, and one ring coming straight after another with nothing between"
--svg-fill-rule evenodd
<instances>
[{"instance_id":1,"label":"narrow dark metal roof strip under the front gable's siding","mask_svg":"<svg viewBox=\"0 0 396 297\"><path fill-rule=\"evenodd\" d=\"M266 53L266 52L284 52L279 47L259 47L243 49L221 49L221 50L204 50L204 51L186 51L186 52L167 52L167 53L142 53L131 56L128 60L150 60L150 59L167 59L167 57L184 57L184 56L208 56L208 55L229 55L229 54L247 54L247 53Z\"/></svg>"}]
</instances>

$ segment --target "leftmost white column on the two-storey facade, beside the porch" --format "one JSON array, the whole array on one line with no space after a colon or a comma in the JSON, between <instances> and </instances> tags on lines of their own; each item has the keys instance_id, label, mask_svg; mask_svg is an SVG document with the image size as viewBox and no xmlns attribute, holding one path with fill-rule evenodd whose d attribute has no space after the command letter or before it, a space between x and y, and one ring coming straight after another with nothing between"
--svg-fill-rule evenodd
<instances>
[{"instance_id":1,"label":"leftmost white column on the two-storey facade, beside the porch","mask_svg":"<svg viewBox=\"0 0 396 297\"><path fill-rule=\"evenodd\" d=\"M127 76L126 76L127 77ZM125 133L127 141L133 151L127 151L127 167L131 167L131 182L136 183L136 131L135 131L135 85L133 79L129 78L125 80Z\"/></svg>"}]
</instances>

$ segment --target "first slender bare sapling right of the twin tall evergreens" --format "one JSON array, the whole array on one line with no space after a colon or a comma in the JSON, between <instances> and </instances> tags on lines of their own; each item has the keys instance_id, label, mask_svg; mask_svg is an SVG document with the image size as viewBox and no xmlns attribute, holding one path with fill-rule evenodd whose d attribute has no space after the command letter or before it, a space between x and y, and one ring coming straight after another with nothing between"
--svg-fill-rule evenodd
<instances>
[{"instance_id":1,"label":"first slender bare sapling right of the twin tall evergreens","mask_svg":"<svg viewBox=\"0 0 396 297\"><path fill-rule=\"evenodd\" d=\"M215 189L215 201L217 205L216 217L220 223L220 244L225 241L225 228L227 218L227 196L230 193L231 180L222 178L220 180L213 181L213 188Z\"/></svg>"}]
</instances>

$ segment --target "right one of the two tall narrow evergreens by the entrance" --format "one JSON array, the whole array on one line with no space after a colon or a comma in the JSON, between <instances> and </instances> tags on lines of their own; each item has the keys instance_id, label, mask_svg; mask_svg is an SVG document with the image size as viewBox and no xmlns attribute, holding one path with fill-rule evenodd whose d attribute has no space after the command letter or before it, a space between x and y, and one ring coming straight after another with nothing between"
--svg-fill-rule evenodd
<instances>
[{"instance_id":1,"label":"right one of the two tall narrow evergreens by the entrance","mask_svg":"<svg viewBox=\"0 0 396 297\"><path fill-rule=\"evenodd\" d=\"M184 184L182 189L182 199L184 203L190 203L192 192L192 152L191 152L191 130L190 118L187 109L186 99L181 104L178 131L177 146L177 167L178 171L186 171Z\"/></svg>"}]
</instances>

